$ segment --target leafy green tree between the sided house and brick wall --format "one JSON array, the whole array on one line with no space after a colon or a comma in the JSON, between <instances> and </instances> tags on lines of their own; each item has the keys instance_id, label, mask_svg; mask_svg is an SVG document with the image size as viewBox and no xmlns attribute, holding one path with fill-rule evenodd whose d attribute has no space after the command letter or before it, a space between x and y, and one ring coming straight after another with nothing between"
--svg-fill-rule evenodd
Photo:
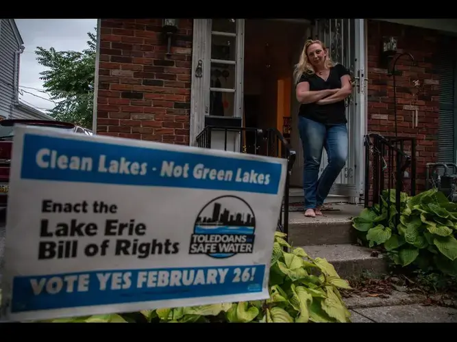
<instances>
[{"instance_id":1,"label":"leafy green tree between the sided house and brick wall","mask_svg":"<svg viewBox=\"0 0 457 342\"><path fill-rule=\"evenodd\" d=\"M36 60L47 70L40 73L43 87L57 103L48 114L56 120L92 127L95 50L97 34L88 33L88 49L55 51L36 48Z\"/></svg>"}]
</instances>

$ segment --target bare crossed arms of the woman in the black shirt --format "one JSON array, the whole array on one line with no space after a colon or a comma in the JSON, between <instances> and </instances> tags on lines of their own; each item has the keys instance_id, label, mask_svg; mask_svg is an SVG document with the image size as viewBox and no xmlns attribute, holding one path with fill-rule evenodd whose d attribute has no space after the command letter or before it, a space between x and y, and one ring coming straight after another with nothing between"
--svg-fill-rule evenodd
<instances>
[{"instance_id":1,"label":"bare crossed arms of the woman in the black shirt","mask_svg":"<svg viewBox=\"0 0 457 342\"><path fill-rule=\"evenodd\" d=\"M341 88L310 91L310 83L301 82L297 85L296 96L299 103L317 103L329 105L344 100L352 92L351 78L349 75L341 77Z\"/></svg>"}]
</instances>

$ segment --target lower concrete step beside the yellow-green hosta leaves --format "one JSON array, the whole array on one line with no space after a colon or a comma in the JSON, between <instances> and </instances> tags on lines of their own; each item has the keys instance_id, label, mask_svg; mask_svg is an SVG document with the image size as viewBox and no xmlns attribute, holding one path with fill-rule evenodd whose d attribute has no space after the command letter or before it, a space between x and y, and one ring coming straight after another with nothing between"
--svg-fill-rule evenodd
<instances>
[{"instance_id":1,"label":"lower concrete step beside the yellow-green hosta leaves","mask_svg":"<svg viewBox=\"0 0 457 342\"><path fill-rule=\"evenodd\" d=\"M295 245L297 246L297 245ZM320 246L300 246L312 258L325 258L331 263L341 278L360 276L370 272L381 276L387 271L387 262L382 254L372 254L371 248L351 244L330 244Z\"/></svg>"}]
</instances>

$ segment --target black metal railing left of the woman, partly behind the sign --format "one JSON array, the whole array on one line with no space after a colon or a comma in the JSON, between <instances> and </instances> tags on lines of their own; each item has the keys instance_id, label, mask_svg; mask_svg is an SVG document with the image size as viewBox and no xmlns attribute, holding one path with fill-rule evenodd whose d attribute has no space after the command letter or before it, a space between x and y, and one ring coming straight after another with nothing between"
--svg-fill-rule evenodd
<instances>
[{"instance_id":1,"label":"black metal railing left of the woman, partly behind the sign","mask_svg":"<svg viewBox=\"0 0 457 342\"><path fill-rule=\"evenodd\" d=\"M219 135L212 140L214 135ZM291 176L295 151L277 129L258 129L255 127L217 127L206 126L196 138L197 146L219 148L252 155L285 158L288 172L282 200L283 209L277 222L277 230L288 235L289 177ZM217 146L215 146L217 145ZM284 213L283 213L284 211Z\"/></svg>"}]
</instances>

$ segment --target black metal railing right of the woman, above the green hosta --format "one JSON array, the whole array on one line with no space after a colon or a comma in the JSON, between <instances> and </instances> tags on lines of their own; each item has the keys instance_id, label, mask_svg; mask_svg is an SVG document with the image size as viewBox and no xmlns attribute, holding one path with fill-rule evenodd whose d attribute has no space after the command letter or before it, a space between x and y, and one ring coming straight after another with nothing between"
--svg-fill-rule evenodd
<instances>
[{"instance_id":1,"label":"black metal railing right of the woman, above the green hosta","mask_svg":"<svg viewBox=\"0 0 457 342\"><path fill-rule=\"evenodd\" d=\"M395 205L396 225L401 213L401 193L416 194L415 156L415 137L365 135L365 207L379 205L381 213L383 206L387 205L387 217L390 217L391 205ZM395 189L395 203L391 199L392 189Z\"/></svg>"}]
</instances>

